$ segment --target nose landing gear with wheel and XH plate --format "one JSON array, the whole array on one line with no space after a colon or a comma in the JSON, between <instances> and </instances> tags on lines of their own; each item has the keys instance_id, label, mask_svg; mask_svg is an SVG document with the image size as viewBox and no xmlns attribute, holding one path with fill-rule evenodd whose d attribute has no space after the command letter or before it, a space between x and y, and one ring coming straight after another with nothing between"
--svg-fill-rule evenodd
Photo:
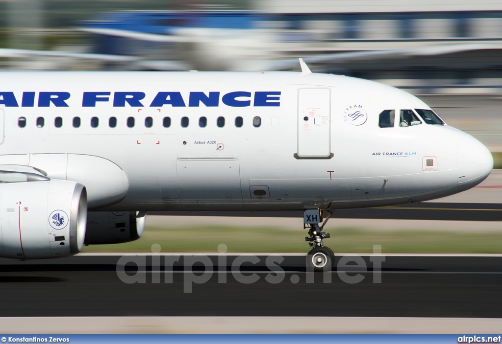
<instances>
[{"instance_id":1,"label":"nose landing gear with wheel and XH plate","mask_svg":"<svg viewBox=\"0 0 502 344\"><path fill-rule=\"evenodd\" d=\"M322 231L326 222L330 218L332 212L326 217L321 226L322 221L319 209L309 209L303 212L304 228L308 229L309 236L305 237L305 241L309 242L311 250L307 253L307 265L311 271L322 272L331 271L335 262L333 251L324 246L323 239L329 238L329 233Z\"/></svg>"}]
</instances>

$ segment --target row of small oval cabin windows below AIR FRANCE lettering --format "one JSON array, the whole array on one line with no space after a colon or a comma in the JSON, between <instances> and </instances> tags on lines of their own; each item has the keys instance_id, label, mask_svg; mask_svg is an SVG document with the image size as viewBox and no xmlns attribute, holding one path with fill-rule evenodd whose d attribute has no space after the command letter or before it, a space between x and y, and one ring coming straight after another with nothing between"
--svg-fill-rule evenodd
<instances>
[{"instance_id":1,"label":"row of small oval cabin windows below AIR FRANCE lettering","mask_svg":"<svg viewBox=\"0 0 502 344\"><path fill-rule=\"evenodd\" d=\"M37 128L43 128L45 125L45 119L44 117L38 117L37 121ZM128 117L127 122L126 122L128 128L133 128L136 125L136 118L134 117ZM146 117L145 118L145 127L151 128L154 124L154 120L152 117ZM190 124L190 120L188 117L182 117L180 121L181 127L187 128L188 125ZM244 124L244 121L242 117L235 117L235 126L237 128L242 127ZM80 117L73 117L72 125L74 128L80 128L81 125L81 120ZM262 125L262 118L259 116L256 116L253 118L253 126L258 128ZM20 117L18 119L18 126L20 128L26 127L26 118L25 117ZM61 117L56 117L54 119L54 126L56 128L61 128L63 126L63 119ZM97 117L92 117L90 121L90 126L92 128L97 128L99 126L99 118ZM117 119L116 117L110 117L108 119L108 126L110 128L115 128L117 126ZM164 117L162 119L162 126L164 128L169 128L171 126L171 117ZM207 118L206 117L200 117L199 118L199 127L205 128L207 126ZM218 128L223 128L225 126L225 118L224 117L218 117L216 119L216 126Z\"/></svg>"}]
</instances>

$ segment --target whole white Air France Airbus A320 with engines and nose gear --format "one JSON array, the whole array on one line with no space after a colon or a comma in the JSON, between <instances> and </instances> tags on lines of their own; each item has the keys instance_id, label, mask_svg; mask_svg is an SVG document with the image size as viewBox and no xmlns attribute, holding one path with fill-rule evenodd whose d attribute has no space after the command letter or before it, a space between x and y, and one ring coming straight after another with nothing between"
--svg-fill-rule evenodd
<instances>
[{"instance_id":1,"label":"whole white Air France Airbus A320 with engines and nose gear","mask_svg":"<svg viewBox=\"0 0 502 344\"><path fill-rule=\"evenodd\" d=\"M493 160L396 88L302 72L2 72L0 256L135 240L148 211L322 218L469 189ZM325 222L324 222L325 223Z\"/></svg>"}]
</instances>

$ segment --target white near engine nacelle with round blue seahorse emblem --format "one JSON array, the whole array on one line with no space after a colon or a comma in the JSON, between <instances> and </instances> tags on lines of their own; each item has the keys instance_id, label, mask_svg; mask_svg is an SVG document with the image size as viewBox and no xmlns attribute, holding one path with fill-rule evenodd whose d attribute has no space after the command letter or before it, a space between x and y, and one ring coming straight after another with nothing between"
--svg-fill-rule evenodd
<instances>
[{"instance_id":1,"label":"white near engine nacelle with round blue seahorse emblem","mask_svg":"<svg viewBox=\"0 0 502 344\"><path fill-rule=\"evenodd\" d=\"M56 258L80 252L87 194L67 180L0 184L0 257Z\"/></svg>"}]
</instances>

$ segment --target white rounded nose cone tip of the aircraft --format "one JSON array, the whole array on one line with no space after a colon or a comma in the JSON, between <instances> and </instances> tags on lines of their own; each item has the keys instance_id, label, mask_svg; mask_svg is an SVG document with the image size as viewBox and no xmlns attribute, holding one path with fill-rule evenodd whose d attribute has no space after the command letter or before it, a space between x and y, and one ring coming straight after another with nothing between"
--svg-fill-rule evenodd
<instances>
[{"instance_id":1,"label":"white rounded nose cone tip of the aircraft","mask_svg":"<svg viewBox=\"0 0 502 344\"><path fill-rule=\"evenodd\" d=\"M470 135L460 141L457 160L459 191L481 183L493 168L493 157L488 148Z\"/></svg>"}]
</instances>

